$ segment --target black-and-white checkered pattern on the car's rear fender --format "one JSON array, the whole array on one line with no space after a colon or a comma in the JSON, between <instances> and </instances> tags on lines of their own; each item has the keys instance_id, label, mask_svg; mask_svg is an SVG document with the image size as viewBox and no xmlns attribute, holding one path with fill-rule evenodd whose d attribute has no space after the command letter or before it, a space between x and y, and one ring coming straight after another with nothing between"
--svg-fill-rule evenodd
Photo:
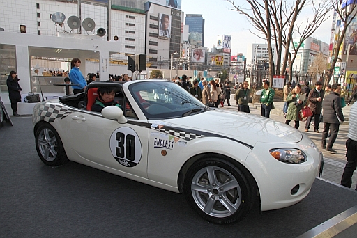
<instances>
[{"instance_id":1,"label":"black-and-white checkered pattern on the car's rear fender","mask_svg":"<svg viewBox=\"0 0 357 238\"><path fill-rule=\"evenodd\" d=\"M40 110L38 111L37 121L43 120L45 122L54 122L56 118L66 118L73 110L68 109L68 107L61 106L59 104L41 104Z\"/></svg>"}]
</instances>

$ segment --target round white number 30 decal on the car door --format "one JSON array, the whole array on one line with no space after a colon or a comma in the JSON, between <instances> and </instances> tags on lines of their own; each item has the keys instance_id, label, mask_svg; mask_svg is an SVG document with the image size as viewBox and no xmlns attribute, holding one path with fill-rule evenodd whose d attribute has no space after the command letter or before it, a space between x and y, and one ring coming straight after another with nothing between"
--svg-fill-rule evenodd
<instances>
[{"instance_id":1,"label":"round white number 30 decal on the car door","mask_svg":"<svg viewBox=\"0 0 357 238\"><path fill-rule=\"evenodd\" d=\"M116 129L110 136L110 151L114 159L126 167L134 167L142 158L139 136L130 127Z\"/></svg>"}]
</instances>

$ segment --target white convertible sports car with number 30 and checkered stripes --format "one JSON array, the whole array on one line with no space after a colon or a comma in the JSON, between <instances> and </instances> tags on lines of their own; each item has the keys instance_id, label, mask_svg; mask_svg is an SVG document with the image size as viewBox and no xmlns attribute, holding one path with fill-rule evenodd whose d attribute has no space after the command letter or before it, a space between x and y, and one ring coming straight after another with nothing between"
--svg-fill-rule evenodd
<instances>
[{"instance_id":1,"label":"white convertible sports car with number 30 and checkered stripes","mask_svg":"<svg viewBox=\"0 0 357 238\"><path fill-rule=\"evenodd\" d=\"M102 87L116 88L121 108L91 111ZM293 127L210 109L170 81L93 82L36 104L33 130L48 166L76 161L184 193L212 223L242 219L257 196L262 211L294 205L322 169L317 146Z\"/></svg>"}]
</instances>

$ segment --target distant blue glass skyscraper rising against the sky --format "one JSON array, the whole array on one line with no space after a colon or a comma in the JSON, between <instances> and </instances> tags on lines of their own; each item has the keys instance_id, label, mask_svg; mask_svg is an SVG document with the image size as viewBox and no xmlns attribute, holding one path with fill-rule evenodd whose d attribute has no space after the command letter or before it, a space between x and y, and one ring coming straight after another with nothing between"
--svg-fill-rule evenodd
<instances>
[{"instance_id":1,"label":"distant blue glass skyscraper rising against the sky","mask_svg":"<svg viewBox=\"0 0 357 238\"><path fill-rule=\"evenodd\" d=\"M202 14L186 14L185 24L190 26L188 29L190 44L196 45L198 43L199 46L203 47L204 19L202 18Z\"/></svg>"}]
</instances>

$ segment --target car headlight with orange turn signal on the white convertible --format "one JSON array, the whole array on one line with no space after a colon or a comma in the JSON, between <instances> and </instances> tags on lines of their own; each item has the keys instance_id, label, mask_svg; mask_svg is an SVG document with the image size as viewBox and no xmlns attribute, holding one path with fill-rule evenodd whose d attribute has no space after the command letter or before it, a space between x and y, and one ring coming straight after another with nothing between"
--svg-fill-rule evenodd
<instances>
[{"instance_id":1,"label":"car headlight with orange turn signal on the white convertible","mask_svg":"<svg viewBox=\"0 0 357 238\"><path fill-rule=\"evenodd\" d=\"M269 152L272 157L283 163L300 164L307 161L305 153L294 148L271 149Z\"/></svg>"}]
</instances>

